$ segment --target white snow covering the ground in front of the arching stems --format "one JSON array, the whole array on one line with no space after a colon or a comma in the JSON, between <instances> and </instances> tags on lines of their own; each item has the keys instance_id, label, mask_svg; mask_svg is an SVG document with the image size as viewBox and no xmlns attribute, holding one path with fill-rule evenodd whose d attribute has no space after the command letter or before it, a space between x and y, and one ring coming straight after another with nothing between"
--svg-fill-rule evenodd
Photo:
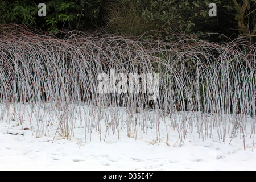
<instances>
[{"instance_id":1,"label":"white snow covering the ground in front of the arching stems","mask_svg":"<svg viewBox=\"0 0 256 182\"><path fill-rule=\"evenodd\" d=\"M55 136L58 125L49 134L38 136L38 121L20 125L18 118L0 122L0 170L255 170L256 150L253 137L235 137L220 142L217 132L211 138L199 138L196 130L188 133L180 146L176 131L168 133L160 122L160 139L155 142L155 127L147 135L127 136L126 127L118 133L98 131L86 134L75 126L71 139ZM23 130L25 127L30 130ZM31 129L32 127L32 129ZM54 141L53 141L54 138ZM105 139L105 140L104 140Z\"/></svg>"}]
</instances>

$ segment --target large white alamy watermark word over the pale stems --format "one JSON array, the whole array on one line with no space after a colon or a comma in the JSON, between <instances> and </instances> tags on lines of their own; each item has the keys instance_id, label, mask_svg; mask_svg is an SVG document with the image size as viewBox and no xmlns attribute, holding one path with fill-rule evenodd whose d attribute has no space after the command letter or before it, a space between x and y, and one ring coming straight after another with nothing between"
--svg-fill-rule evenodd
<instances>
[{"instance_id":1,"label":"large white alamy watermark word over the pale stems","mask_svg":"<svg viewBox=\"0 0 256 182\"><path fill-rule=\"evenodd\" d=\"M101 94L148 94L148 100L159 97L158 73L115 73L110 70L110 76L105 73L98 75L98 93Z\"/></svg>"}]
</instances>

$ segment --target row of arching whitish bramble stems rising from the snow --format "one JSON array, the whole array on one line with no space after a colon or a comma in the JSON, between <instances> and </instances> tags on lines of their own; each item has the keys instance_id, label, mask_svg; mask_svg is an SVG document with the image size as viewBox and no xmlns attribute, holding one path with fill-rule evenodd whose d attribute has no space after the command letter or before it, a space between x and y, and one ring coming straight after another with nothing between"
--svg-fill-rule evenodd
<instances>
[{"instance_id":1,"label":"row of arching whitish bramble stems rising from the snow","mask_svg":"<svg viewBox=\"0 0 256 182\"><path fill-rule=\"evenodd\" d=\"M64 39L0 27L1 121L16 118L22 124L26 115L38 121L32 132L46 134L58 125L56 135L69 139L75 125L83 125L85 135L98 131L101 139L102 120L106 133L118 133L122 126L134 138L139 130L146 133L156 126L155 141L163 135L158 126L166 125L166 135L177 132L180 144L193 130L203 139L216 131L220 142L255 135L254 42L237 38L217 44L181 34L173 34L171 42L81 31L60 34ZM134 94L98 93L98 75L110 76L113 70L117 75L158 74L158 99L148 100L144 87Z\"/></svg>"}]
</instances>

